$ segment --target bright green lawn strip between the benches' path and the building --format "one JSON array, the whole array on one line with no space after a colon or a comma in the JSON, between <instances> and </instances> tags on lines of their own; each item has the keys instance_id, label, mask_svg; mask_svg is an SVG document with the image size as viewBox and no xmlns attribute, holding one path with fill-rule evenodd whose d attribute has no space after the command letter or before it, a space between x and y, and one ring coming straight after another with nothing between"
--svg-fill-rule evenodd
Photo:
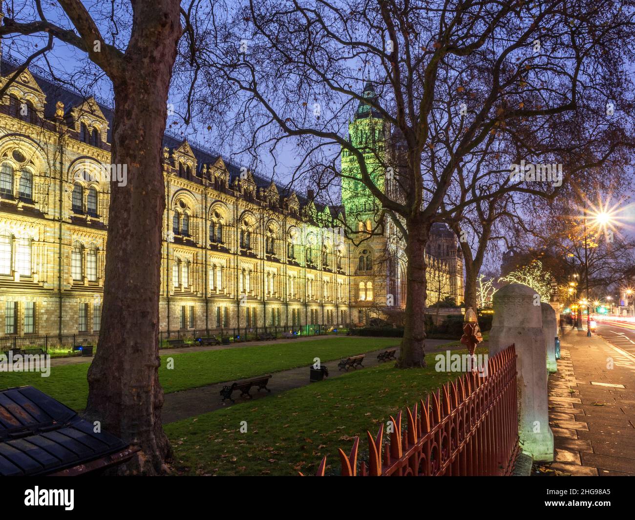
<instances>
[{"instance_id":1,"label":"bright green lawn strip between the benches' path and the building","mask_svg":"<svg viewBox=\"0 0 635 520\"><path fill-rule=\"evenodd\" d=\"M159 380L166 393L211 385L286 370L313 363L314 357L322 361L353 356L370 350L392 347L401 338L337 337L306 342L286 340L240 349L185 352L161 356ZM173 370L166 368L168 357L174 360ZM39 373L0 373L0 390L22 385L33 385L74 410L83 410L88 398L90 363L52 366L50 377Z\"/></svg>"}]
</instances>

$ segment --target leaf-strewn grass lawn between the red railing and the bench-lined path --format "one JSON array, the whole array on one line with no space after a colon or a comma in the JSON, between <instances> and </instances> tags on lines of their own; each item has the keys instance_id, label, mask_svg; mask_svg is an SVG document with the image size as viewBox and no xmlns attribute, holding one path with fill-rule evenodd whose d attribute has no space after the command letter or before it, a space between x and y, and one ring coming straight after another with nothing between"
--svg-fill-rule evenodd
<instances>
[{"instance_id":1,"label":"leaf-strewn grass lawn between the red railing and the bench-lined path","mask_svg":"<svg viewBox=\"0 0 635 520\"><path fill-rule=\"evenodd\" d=\"M427 368L410 370L386 363L165 425L174 466L182 474L291 476L314 474L328 455L338 472L337 448L348 453L352 437L360 435L359 458L365 458L366 430L374 437L391 413L457 377L436 372L434 354L426 361ZM247 422L246 433L240 432L241 421Z\"/></svg>"}]
</instances>

